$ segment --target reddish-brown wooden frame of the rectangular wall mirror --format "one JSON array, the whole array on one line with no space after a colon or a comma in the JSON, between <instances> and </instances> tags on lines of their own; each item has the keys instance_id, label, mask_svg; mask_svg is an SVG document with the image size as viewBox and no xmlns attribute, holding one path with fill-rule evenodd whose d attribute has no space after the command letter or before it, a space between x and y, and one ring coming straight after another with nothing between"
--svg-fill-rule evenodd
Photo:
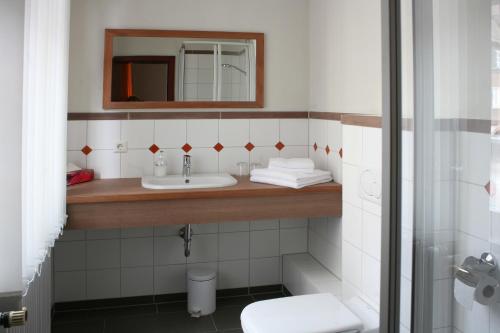
<instances>
[{"instance_id":1,"label":"reddish-brown wooden frame of the rectangular wall mirror","mask_svg":"<svg viewBox=\"0 0 500 333\"><path fill-rule=\"evenodd\" d=\"M255 101L154 101L113 102L111 83L113 72L114 37L170 37L170 38L213 38L213 39L255 39L256 78ZM189 31L189 30L142 30L106 29L104 38L104 109L182 109L182 108L263 108L264 107L264 34L255 32Z\"/></svg>"}]
</instances>

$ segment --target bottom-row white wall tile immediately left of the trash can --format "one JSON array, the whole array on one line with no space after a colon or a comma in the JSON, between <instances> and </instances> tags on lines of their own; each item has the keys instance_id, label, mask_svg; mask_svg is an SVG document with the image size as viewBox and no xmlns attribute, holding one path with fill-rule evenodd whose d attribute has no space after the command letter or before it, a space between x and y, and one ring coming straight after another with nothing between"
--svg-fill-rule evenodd
<instances>
[{"instance_id":1,"label":"bottom-row white wall tile immediately left of the trash can","mask_svg":"<svg viewBox=\"0 0 500 333\"><path fill-rule=\"evenodd\" d=\"M155 267L155 294L173 294L186 291L186 265Z\"/></svg>"}]
</instances>

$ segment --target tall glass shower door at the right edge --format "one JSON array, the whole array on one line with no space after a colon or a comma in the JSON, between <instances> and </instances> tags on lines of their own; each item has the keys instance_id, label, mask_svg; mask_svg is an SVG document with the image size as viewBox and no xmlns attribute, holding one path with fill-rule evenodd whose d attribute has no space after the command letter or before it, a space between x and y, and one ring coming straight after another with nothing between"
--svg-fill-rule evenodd
<instances>
[{"instance_id":1,"label":"tall glass shower door at the right edge","mask_svg":"<svg viewBox=\"0 0 500 333\"><path fill-rule=\"evenodd\" d=\"M500 332L500 2L400 17L400 332Z\"/></svg>"}]
</instances>

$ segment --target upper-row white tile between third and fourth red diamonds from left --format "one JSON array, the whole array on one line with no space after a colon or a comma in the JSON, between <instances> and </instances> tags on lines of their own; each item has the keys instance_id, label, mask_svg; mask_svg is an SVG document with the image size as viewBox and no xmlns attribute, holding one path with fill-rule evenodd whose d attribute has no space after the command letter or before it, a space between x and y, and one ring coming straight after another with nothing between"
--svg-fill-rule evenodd
<instances>
[{"instance_id":1,"label":"upper-row white tile between third and fourth red diamonds from left","mask_svg":"<svg viewBox=\"0 0 500 333\"><path fill-rule=\"evenodd\" d=\"M187 121L187 142L191 147L213 147L219 142L219 120L190 119Z\"/></svg>"}]
</instances>

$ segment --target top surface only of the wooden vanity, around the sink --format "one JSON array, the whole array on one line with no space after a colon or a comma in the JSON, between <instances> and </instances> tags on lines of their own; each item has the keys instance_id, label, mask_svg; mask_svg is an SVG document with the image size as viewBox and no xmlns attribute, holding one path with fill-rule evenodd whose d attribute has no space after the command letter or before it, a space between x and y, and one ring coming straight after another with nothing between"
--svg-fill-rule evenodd
<instances>
[{"instance_id":1,"label":"top surface only of the wooden vanity, around the sink","mask_svg":"<svg viewBox=\"0 0 500 333\"><path fill-rule=\"evenodd\" d=\"M303 189L250 182L249 177L235 177L238 184L229 187L185 190L150 190L141 185L140 178L94 180L68 187L67 204L106 202L162 201L179 199L253 198L294 196L305 193L342 192L342 185L330 182Z\"/></svg>"}]
</instances>

